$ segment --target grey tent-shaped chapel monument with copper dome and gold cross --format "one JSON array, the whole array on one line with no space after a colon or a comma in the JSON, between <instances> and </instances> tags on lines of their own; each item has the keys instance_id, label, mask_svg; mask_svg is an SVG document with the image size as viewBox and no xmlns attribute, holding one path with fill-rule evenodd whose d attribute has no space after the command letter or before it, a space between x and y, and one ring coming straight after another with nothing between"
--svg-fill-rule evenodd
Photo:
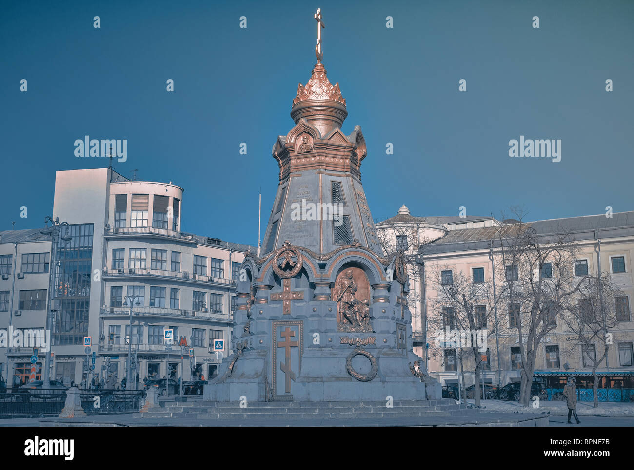
<instances>
[{"instance_id":1,"label":"grey tent-shaped chapel monument with copper dome and gold cross","mask_svg":"<svg viewBox=\"0 0 634 470\"><path fill-rule=\"evenodd\" d=\"M361 127L344 134L346 99L317 63L297 87L295 122L273 145L279 186L259 256L247 253L237 283L234 353L204 388L205 400L417 401L441 398L440 384L412 352L408 276L400 253L378 243L361 163ZM327 217L294 220L308 200L340 204Z\"/></svg>"}]
</instances>

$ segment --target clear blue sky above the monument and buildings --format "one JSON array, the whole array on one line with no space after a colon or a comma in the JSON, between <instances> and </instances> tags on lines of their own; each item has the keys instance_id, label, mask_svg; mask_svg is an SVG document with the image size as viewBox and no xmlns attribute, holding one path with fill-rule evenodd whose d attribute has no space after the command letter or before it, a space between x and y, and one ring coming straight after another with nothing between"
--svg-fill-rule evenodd
<instances>
[{"instance_id":1,"label":"clear blue sky above the monument and buildings","mask_svg":"<svg viewBox=\"0 0 634 470\"><path fill-rule=\"evenodd\" d=\"M420 216L523 204L529 220L634 210L634 2L24 1L0 16L0 229L42 225L57 170L107 166L75 158L89 135L127 139L121 174L185 188L184 231L256 244L259 190L264 231L278 184L271 148L315 63L318 6L342 130L361 125L368 144L375 219L402 204ZM510 158L521 135L561 139L561 162Z\"/></svg>"}]
</instances>

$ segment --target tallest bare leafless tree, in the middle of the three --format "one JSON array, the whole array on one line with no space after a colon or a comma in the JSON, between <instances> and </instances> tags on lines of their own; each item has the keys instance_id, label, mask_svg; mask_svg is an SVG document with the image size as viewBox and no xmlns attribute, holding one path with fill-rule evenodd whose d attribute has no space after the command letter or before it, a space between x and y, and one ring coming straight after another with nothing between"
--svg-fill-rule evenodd
<instances>
[{"instance_id":1,"label":"tallest bare leafless tree, in the middle of the three","mask_svg":"<svg viewBox=\"0 0 634 470\"><path fill-rule=\"evenodd\" d=\"M542 340L557 326L556 316L566 308L588 276L575 276L576 248L570 232L538 233L515 219L498 227L498 268L503 273L500 301L508 302L510 328L517 329L521 352L520 402L529 405L536 355ZM504 217L502 217L504 220Z\"/></svg>"}]
</instances>

